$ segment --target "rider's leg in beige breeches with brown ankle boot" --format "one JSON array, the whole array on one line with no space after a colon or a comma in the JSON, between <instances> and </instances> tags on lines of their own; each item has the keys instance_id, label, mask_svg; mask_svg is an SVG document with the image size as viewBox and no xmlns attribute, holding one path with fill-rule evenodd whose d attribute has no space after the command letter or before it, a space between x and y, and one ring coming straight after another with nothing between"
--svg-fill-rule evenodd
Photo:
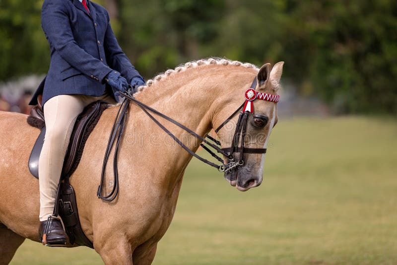
<instances>
[{"instance_id":1,"label":"rider's leg in beige breeches with brown ankle boot","mask_svg":"<svg viewBox=\"0 0 397 265\"><path fill-rule=\"evenodd\" d=\"M43 244L64 245L67 235L60 219L52 218L66 148L78 114L79 95L59 95L44 104L46 134L39 159L40 227Z\"/></svg>"}]
</instances>

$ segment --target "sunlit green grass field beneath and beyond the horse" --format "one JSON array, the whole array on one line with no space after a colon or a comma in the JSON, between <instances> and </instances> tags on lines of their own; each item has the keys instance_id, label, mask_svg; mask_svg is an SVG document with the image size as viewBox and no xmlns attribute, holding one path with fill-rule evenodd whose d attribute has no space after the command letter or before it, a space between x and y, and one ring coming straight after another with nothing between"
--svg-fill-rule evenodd
<instances>
[{"instance_id":1,"label":"sunlit green grass field beneath and beyond the horse","mask_svg":"<svg viewBox=\"0 0 397 265\"><path fill-rule=\"evenodd\" d=\"M168 264L397 264L397 121L280 120L264 182L237 191L193 160L157 248ZM26 241L11 264L102 264Z\"/></svg>"}]
</instances>

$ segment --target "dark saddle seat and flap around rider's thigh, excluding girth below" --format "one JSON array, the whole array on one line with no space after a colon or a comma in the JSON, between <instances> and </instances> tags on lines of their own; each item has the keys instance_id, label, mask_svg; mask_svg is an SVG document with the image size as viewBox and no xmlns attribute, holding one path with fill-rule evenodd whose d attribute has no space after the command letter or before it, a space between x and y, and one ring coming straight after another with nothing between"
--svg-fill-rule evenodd
<instances>
[{"instance_id":1,"label":"dark saddle seat and flap around rider's thigh, excluding girth below","mask_svg":"<svg viewBox=\"0 0 397 265\"><path fill-rule=\"evenodd\" d=\"M77 117L66 151L64 166L62 169L62 178L66 175L70 176L77 168L88 136L94 130L103 111L109 106L110 104L103 100L93 102L85 107L83 112ZM34 110L37 112L37 108L34 108ZM31 114L31 116L28 117L27 122L31 126L40 128L41 126L39 127L38 125L42 125L42 121L40 121L41 118L41 116ZM29 157L29 170L36 178L39 178L39 157L44 143L44 135L45 127L39 134Z\"/></svg>"}]
</instances>

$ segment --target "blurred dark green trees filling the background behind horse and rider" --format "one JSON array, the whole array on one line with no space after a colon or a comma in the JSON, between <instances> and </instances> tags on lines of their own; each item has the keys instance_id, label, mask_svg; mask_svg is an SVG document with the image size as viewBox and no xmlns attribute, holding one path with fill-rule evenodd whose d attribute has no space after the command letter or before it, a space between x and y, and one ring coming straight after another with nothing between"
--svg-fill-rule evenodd
<instances>
[{"instance_id":1,"label":"blurred dark green trees filling the background behind horse and rider","mask_svg":"<svg viewBox=\"0 0 397 265\"><path fill-rule=\"evenodd\" d=\"M150 78L205 57L285 61L284 80L338 113L397 113L394 0L98 0ZM45 73L40 0L0 0L0 80Z\"/></svg>"}]
</instances>

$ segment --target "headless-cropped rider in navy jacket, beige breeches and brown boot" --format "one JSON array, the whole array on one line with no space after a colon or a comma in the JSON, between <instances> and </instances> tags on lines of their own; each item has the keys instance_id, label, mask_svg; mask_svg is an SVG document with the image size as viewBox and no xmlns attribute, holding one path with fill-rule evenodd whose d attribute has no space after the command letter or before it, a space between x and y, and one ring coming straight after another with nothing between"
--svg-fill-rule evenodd
<instances>
[{"instance_id":1,"label":"headless-cropped rider in navy jacket, beige breeches and brown boot","mask_svg":"<svg viewBox=\"0 0 397 265\"><path fill-rule=\"evenodd\" d=\"M96 100L115 103L118 91L126 91L129 83L142 85L144 80L121 50L101 5L88 0L44 0L41 24L50 44L50 69L29 104L38 104L42 94L46 134L39 159L39 234L44 236L49 221L43 244L54 245L67 240L53 210L77 116Z\"/></svg>"}]
</instances>

